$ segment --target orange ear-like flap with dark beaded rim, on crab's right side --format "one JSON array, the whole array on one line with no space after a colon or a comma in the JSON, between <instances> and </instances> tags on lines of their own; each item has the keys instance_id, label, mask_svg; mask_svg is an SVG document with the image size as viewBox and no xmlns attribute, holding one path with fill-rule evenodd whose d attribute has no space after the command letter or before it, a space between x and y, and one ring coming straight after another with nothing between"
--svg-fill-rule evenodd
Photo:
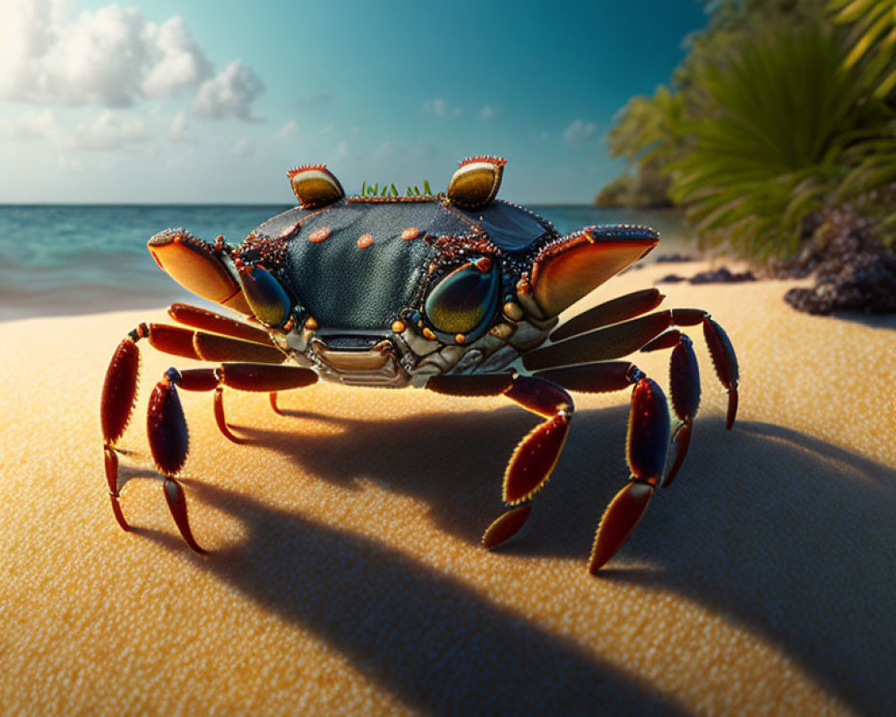
<instances>
[{"instance_id":1,"label":"orange ear-like flap with dark beaded rim, on crab's right side","mask_svg":"<svg viewBox=\"0 0 896 717\"><path fill-rule=\"evenodd\" d=\"M545 246L532 265L531 280L519 287L523 303L534 298L545 316L559 315L607 279L657 246L647 227L588 227Z\"/></svg>"}]
</instances>

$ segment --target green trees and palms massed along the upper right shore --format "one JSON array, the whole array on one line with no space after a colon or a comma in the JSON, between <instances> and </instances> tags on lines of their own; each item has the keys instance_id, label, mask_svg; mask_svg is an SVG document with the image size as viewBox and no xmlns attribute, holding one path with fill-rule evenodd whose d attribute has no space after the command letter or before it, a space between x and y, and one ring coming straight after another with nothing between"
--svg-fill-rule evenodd
<instances>
[{"instance_id":1,"label":"green trees and palms massed along the upper right shore","mask_svg":"<svg viewBox=\"0 0 896 717\"><path fill-rule=\"evenodd\" d=\"M788 256L833 210L896 226L896 0L705 0L667 85L608 134L600 205L685 208L704 245Z\"/></svg>"}]
</instances>

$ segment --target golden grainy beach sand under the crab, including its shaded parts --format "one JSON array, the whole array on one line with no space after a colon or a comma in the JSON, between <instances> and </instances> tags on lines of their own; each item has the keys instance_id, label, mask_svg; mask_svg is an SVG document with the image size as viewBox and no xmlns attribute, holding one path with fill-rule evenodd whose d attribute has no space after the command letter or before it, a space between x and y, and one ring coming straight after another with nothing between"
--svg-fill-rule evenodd
<instances>
[{"instance_id":1,"label":"golden grainy beach sand under the crab, including its shaded parts","mask_svg":"<svg viewBox=\"0 0 896 717\"><path fill-rule=\"evenodd\" d=\"M582 302L699 264L627 272ZM163 309L0 324L4 714L892 714L896 320L798 314L793 282L664 284L742 368L740 413L694 333L701 415L598 578L593 531L626 479L627 396L576 396L554 477L513 545L478 547L504 463L536 424L501 398L332 385L182 394L184 477L208 557L152 470L143 350L113 519L99 388ZM667 384L667 358L636 358Z\"/></svg>"}]
</instances>

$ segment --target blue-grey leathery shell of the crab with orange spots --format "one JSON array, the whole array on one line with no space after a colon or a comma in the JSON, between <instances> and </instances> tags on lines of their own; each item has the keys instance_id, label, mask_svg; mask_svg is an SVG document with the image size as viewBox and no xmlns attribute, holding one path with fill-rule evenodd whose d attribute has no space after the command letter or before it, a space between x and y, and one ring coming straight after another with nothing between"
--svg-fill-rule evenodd
<instances>
[{"instance_id":1,"label":"blue-grey leathery shell of the crab with orange spots","mask_svg":"<svg viewBox=\"0 0 896 717\"><path fill-rule=\"evenodd\" d=\"M419 230L418 238L403 239L402 232L412 227ZM315 230L324 228L330 229L326 239L309 240ZM279 265L267 268L318 324L383 330L418 298L427 266L437 258L435 239L475 235L513 255L556 237L556 230L532 212L501 201L464 212L440 197L421 201L352 197L323 210L283 212L254 234L285 241ZM361 248L358 238L365 234L373 243Z\"/></svg>"}]
</instances>

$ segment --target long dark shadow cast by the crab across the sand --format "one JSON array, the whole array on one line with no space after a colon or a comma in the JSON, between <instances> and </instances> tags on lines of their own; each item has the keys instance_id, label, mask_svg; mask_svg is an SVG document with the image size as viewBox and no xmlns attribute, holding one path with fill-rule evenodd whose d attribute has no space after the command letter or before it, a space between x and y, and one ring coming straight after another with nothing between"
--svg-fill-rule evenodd
<instances>
[{"instance_id":1,"label":"long dark shadow cast by the crab across the sand","mask_svg":"<svg viewBox=\"0 0 896 717\"><path fill-rule=\"evenodd\" d=\"M585 570L599 516L625 483L626 416L625 407L576 414L530 523L506 550L579 557ZM538 421L515 408L336 420L344 430L328 436L237 428L326 479L350 485L364 476L424 500L440 528L472 542L500 513L504 463ZM424 458L394 460L408 446ZM197 499L226 506L248 528L246 543L203 566L336 644L424 713L677 709L394 549L189 482ZM894 487L892 468L813 437L745 421L728 432L719 417L702 417L675 485L659 491L601 576L706 605L762 635L858 712L883 714L896 702L883 668L896 635ZM626 568L633 558L650 568ZM392 590L377 592L383 584Z\"/></svg>"}]
</instances>

